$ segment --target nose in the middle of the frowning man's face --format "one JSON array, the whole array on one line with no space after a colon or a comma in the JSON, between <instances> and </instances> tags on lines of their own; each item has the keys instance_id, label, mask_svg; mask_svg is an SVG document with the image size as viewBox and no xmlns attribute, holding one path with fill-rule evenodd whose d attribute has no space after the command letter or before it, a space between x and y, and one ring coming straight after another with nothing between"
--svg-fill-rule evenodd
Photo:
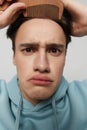
<instances>
[{"instance_id":1,"label":"nose in the middle of the frowning man's face","mask_svg":"<svg viewBox=\"0 0 87 130\"><path fill-rule=\"evenodd\" d=\"M39 52L34 60L34 71L49 73L50 66L46 52Z\"/></svg>"}]
</instances>

